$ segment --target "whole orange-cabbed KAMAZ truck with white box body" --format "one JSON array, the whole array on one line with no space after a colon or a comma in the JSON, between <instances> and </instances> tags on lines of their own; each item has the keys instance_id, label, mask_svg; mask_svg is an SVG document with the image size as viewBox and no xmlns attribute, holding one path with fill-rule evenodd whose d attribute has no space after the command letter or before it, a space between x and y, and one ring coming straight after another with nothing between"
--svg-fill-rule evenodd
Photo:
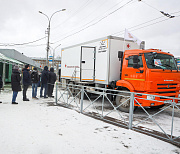
<instances>
[{"instance_id":1,"label":"whole orange-cabbed KAMAZ truck with white box body","mask_svg":"<svg viewBox=\"0 0 180 154\"><path fill-rule=\"evenodd\" d=\"M108 87L123 91L180 97L180 71L174 56L161 50L144 50L144 42L137 45L123 38L107 36L63 48L61 51L61 81L86 86ZM123 52L124 51L124 52ZM163 97L140 96L142 106L162 107ZM120 105L127 97L114 99ZM152 100L160 100L155 102ZM129 103L119 109L129 110ZM139 106L135 102L135 106Z\"/></svg>"}]
</instances>

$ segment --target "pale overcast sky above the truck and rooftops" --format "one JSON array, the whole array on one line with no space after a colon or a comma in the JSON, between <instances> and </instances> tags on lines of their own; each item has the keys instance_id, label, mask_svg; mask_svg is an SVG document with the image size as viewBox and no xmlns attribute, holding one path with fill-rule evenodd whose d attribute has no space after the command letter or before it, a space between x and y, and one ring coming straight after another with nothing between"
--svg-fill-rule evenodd
<instances>
[{"instance_id":1,"label":"pale overcast sky above the truck and rooftops","mask_svg":"<svg viewBox=\"0 0 180 154\"><path fill-rule=\"evenodd\" d=\"M46 57L44 38L51 16L50 46L61 47L108 35L124 37L125 28L145 47L180 57L180 0L0 0L0 48L15 49L29 57ZM169 18L163 11L175 16Z\"/></svg>"}]
</instances>

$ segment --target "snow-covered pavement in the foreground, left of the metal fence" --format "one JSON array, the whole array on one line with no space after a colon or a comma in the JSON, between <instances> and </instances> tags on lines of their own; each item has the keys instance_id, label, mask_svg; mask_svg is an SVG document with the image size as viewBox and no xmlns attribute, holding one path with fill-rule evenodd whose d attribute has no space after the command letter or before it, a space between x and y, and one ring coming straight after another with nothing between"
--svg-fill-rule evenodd
<instances>
[{"instance_id":1,"label":"snow-covered pavement in the foreground, left of the metal fence","mask_svg":"<svg viewBox=\"0 0 180 154\"><path fill-rule=\"evenodd\" d=\"M38 89L39 96L39 89ZM53 99L22 101L11 104L12 92L1 92L1 154L71 154L71 153L180 153L169 143L131 130L113 126L60 106Z\"/></svg>"}]
</instances>

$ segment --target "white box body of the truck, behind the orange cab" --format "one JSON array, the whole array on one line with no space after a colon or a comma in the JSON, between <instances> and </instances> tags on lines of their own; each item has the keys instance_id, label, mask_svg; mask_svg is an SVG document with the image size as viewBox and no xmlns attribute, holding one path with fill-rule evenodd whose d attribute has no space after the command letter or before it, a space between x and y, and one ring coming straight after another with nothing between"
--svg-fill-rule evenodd
<instances>
[{"instance_id":1,"label":"white box body of the truck, behind the orange cab","mask_svg":"<svg viewBox=\"0 0 180 154\"><path fill-rule=\"evenodd\" d=\"M67 47L61 51L61 78L108 85L120 79L118 51L139 49L123 38L105 38Z\"/></svg>"}]
</instances>

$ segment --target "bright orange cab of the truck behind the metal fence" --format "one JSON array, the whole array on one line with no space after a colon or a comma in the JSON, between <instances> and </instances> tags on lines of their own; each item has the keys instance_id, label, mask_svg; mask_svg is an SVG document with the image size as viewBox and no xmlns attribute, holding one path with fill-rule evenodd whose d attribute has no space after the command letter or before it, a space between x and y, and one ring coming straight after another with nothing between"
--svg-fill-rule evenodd
<instances>
[{"instance_id":1,"label":"bright orange cab of the truck behind the metal fence","mask_svg":"<svg viewBox=\"0 0 180 154\"><path fill-rule=\"evenodd\" d=\"M122 57L121 72L121 80L116 82L118 89L180 97L180 71L177 68L174 56L170 53L157 49L126 50ZM161 97L147 97L148 100L138 100L142 106L160 107L164 103L151 100L166 101ZM139 106L137 103L134 105ZM127 104L126 107L128 107Z\"/></svg>"}]
</instances>

